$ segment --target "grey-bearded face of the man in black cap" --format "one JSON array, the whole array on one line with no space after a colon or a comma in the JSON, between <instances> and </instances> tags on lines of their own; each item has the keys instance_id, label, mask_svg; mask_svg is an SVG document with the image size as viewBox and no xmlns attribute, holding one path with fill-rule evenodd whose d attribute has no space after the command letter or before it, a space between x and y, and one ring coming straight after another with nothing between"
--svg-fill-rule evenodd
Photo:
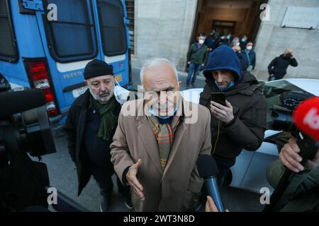
<instances>
[{"instance_id":1,"label":"grey-bearded face of the man in black cap","mask_svg":"<svg viewBox=\"0 0 319 226\"><path fill-rule=\"evenodd\" d=\"M88 85L92 97L102 105L113 97L114 78L112 75L89 78L86 80L86 85Z\"/></svg>"}]
</instances>

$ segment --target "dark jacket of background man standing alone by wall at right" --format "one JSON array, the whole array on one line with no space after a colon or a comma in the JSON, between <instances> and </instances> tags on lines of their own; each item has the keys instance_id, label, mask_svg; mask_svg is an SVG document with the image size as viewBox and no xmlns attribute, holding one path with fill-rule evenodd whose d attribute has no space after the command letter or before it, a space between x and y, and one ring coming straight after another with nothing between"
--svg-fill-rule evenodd
<instances>
[{"instance_id":1,"label":"dark jacket of background man standing alone by wall at right","mask_svg":"<svg viewBox=\"0 0 319 226\"><path fill-rule=\"evenodd\" d=\"M270 62L268 66L269 76L274 75L276 79L284 78L289 65L298 66L298 62L295 58L291 59L290 57L284 57L284 54L281 54Z\"/></svg>"}]
</instances>

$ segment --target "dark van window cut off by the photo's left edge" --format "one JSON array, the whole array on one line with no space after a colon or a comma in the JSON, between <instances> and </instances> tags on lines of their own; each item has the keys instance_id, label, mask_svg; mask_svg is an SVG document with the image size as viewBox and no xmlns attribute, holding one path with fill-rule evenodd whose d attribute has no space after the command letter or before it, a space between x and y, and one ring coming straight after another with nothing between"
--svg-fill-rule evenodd
<instances>
[{"instance_id":1,"label":"dark van window cut off by the photo's left edge","mask_svg":"<svg viewBox=\"0 0 319 226\"><path fill-rule=\"evenodd\" d=\"M0 1L0 59L4 61L18 59L8 0Z\"/></svg>"}]
</instances>

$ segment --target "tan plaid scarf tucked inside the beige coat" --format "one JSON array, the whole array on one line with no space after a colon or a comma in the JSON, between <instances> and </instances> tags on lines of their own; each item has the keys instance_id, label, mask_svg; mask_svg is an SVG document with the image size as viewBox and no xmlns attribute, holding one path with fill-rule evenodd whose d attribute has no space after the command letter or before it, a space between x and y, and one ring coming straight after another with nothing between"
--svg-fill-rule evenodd
<instances>
[{"instance_id":1,"label":"tan plaid scarf tucked inside the beige coat","mask_svg":"<svg viewBox=\"0 0 319 226\"><path fill-rule=\"evenodd\" d=\"M177 126L179 125L180 117L175 115L171 124L159 124L159 120L153 115L147 116L147 119L153 126L153 133L156 137L159 149L159 160L162 169L165 169L169 152L173 145L174 134L177 130Z\"/></svg>"}]
</instances>

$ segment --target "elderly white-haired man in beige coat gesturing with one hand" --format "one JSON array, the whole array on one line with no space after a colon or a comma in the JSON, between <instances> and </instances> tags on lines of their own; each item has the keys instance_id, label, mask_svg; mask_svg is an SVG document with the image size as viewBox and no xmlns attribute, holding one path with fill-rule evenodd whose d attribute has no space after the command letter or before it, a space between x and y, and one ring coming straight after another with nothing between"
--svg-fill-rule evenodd
<instances>
[{"instance_id":1,"label":"elderly white-haired man in beige coat gesturing with one hand","mask_svg":"<svg viewBox=\"0 0 319 226\"><path fill-rule=\"evenodd\" d=\"M123 105L111 161L136 211L190 210L203 185L198 155L211 153L211 114L181 97L167 59L148 61L140 76L145 97Z\"/></svg>"}]
</instances>

